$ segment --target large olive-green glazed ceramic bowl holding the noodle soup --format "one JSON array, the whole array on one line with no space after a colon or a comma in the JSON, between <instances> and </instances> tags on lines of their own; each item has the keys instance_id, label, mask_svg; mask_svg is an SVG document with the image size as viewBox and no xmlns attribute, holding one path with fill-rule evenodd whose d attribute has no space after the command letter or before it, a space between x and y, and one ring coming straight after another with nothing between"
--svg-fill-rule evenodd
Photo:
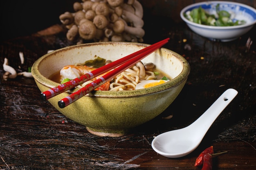
<instances>
[{"instance_id":1,"label":"large olive-green glazed ceramic bowl holding the noodle soup","mask_svg":"<svg viewBox=\"0 0 256 170\"><path fill-rule=\"evenodd\" d=\"M40 57L31 68L41 92L56 87L49 77L63 66L93 60L95 55L115 61L148 44L131 42L97 42L58 49ZM132 91L93 91L65 108L58 101L70 93L64 92L48 101L59 112L86 126L92 134L118 137L162 113L179 95L190 72L189 63L181 55L158 49L142 60L153 62L171 81L158 86ZM38 94L39 95L39 94Z\"/></svg>"}]
</instances>

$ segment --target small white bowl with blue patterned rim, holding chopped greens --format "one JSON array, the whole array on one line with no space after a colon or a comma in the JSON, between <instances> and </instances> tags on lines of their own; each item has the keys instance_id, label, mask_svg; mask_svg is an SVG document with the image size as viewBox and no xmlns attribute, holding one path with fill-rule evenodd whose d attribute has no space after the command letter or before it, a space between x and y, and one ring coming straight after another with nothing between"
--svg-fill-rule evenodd
<instances>
[{"instance_id":1,"label":"small white bowl with blue patterned rim, holding chopped greens","mask_svg":"<svg viewBox=\"0 0 256 170\"><path fill-rule=\"evenodd\" d=\"M216 14L216 5L220 4L220 10L234 13L234 20L245 20L246 24L237 26L208 26L189 21L184 13L200 6L210 14ZM222 42L236 40L247 33L256 23L256 9L245 4L228 1L207 1L191 4L180 12L180 17L186 22L189 28L195 33L211 40Z\"/></svg>"}]
</instances>

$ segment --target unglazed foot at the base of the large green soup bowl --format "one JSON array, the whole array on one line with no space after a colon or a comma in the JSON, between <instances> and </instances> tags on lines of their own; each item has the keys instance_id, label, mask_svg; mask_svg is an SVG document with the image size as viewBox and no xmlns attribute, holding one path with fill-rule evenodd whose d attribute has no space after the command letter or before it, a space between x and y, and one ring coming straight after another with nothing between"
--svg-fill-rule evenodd
<instances>
[{"instance_id":1,"label":"unglazed foot at the base of the large green soup bowl","mask_svg":"<svg viewBox=\"0 0 256 170\"><path fill-rule=\"evenodd\" d=\"M101 136L101 137L121 137L126 134L126 130L103 130L103 129L96 129L96 128L89 128L86 126L88 132L92 133L93 135Z\"/></svg>"}]
</instances>

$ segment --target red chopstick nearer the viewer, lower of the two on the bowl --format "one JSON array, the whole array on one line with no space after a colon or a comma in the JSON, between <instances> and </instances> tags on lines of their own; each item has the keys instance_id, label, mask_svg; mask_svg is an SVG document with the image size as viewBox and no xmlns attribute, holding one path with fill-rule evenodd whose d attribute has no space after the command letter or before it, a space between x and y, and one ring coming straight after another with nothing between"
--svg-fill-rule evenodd
<instances>
[{"instance_id":1,"label":"red chopstick nearer the viewer, lower of the two on the bowl","mask_svg":"<svg viewBox=\"0 0 256 170\"><path fill-rule=\"evenodd\" d=\"M127 68L133 66L143 58L145 58L147 55L150 53L153 53L155 50L159 49L161 46L166 44L168 40L161 42L160 44L157 44L156 46L153 46L152 48L148 49L147 51L144 51L143 53L137 55L136 57L132 58L131 60L127 61L126 63L122 64L121 66L118 66L115 68L113 71L110 71L109 73L103 75L99 79L96 79L90 84L87 84L83 88L79 89L78 91L71 93L69 96L61 99L58 101L58 106L60 108L64 108L68 106L69 104L73 103L77 99L83 97L84 95L90 93L93 91L95 88L101 86L105 82L108 82L110 79L115 77L116 75L120 74L121 72L125 71Z\"/></svg>"}]
</instances>

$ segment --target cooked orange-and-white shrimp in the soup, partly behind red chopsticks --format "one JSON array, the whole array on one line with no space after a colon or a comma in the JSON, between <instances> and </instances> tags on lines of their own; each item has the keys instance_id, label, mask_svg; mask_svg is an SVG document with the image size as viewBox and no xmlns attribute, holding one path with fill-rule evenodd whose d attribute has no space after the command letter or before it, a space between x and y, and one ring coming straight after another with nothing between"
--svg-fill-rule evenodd
<instances>
[{"instance_id":1,"label":"cooked orange-and-white shrimp in the soup, partly behind red chopsticks","mask_svg":"<svg viewBox=\"0 0 256 170\"><path fill-rule=\"evenodd\" d=\"M81 75L84 75L88 72L91 72L93 70L95 70L96 68L92 68L92 67L88 67L88 66L74 66L74 65L68 65L68 66L64 66L61 71L61 80L68 78L68 79L75 79L76 77L80 77ZM106 72L108 73L108 72ZM103 75L105 75L106 73L103 73L95 78L93 78L91 81L88 82L92 82L100 77L102 77ZM110 81L102 84L101 86L99 86L98 88L95 88L96 91L108 91L109 90L109 86L110 86ZM86 83L86 82L85 82Z\"/></svg>"}]
</instances>

